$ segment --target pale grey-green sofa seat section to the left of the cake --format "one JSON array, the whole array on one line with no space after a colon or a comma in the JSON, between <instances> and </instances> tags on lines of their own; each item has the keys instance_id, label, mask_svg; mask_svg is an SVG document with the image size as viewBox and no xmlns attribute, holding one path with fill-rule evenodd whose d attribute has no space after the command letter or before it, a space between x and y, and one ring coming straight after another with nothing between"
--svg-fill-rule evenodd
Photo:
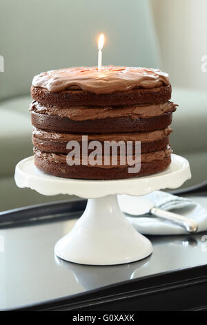
<instances>
[{"instance_id":1,"label":"pale grey-green sofa seat section to the left of the cake","mask_svg":"<svg viewBox=\"0 0 207 325\"><path fill-rule=\"evenodd\" d=\"M29 96L0 102L0 177L14 174L19 160L32 155Z\"/></svg>"}]
</instances>

